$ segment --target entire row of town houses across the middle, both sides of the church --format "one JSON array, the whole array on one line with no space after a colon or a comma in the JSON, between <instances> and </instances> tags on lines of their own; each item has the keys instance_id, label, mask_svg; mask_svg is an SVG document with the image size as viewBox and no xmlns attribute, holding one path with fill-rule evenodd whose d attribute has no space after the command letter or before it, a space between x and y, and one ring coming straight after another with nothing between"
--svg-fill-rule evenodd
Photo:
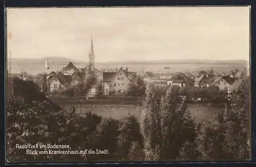
<instances>
[{"instance_id":1,"label":"entire row of town houses across the middle, both sides of the church","mask_svg":"<svg viewBox=\"0 0 256 167\"><path fill-rule=\"evenodd\" d=\"M87 74L89 74L88 67L78 69L72 62L69 62L67 67L57 71L51 72L47 76L50 91L58 90L63 87L76 85L83 81ZM129 89L129 85L138 76L137 72L128 71L122 67L116 72L99 71L94 68L94 74L98 82L102 83L102 91L105 95L112 93L123 93ZM152 72L145 72L142 74L143 80L157 87L165 87L175 85L178 87L195 86L195 87L210 87L215 86L220 90L237 90L242 81L245 79L244 71L237 71L229 75L220 75L215 73L202 73L195 79L190 78L188 74L177 72L170 74L154 74ZM96 93L96 86L92 86L89 93Z\"/></svg>"}]
</instances>

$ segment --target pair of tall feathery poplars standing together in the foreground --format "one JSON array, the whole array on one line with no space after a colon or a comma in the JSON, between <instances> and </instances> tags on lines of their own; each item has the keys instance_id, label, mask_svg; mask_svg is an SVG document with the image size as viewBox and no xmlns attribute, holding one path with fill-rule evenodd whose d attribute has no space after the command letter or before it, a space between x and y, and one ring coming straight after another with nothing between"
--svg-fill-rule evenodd
<instances>
[{"instance_id":1,"label":"pair of tall feathery poplars standing together in the foreground","mask_svg":"<svg viewBox=\"0 0 256 167\"><path fill-rule=\"evenodd\" d=\"M145 160L177 159L184 143L195 136L185 99L177 109L177 87L169 87L161 100L150 86L145 92L141 119Z\"/></svg>"}]
</instances>

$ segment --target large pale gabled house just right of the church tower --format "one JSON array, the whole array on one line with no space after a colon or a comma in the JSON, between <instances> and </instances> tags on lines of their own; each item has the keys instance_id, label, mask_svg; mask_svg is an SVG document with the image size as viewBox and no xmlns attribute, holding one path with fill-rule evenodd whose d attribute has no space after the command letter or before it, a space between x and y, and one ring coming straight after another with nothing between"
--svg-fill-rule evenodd
<instances>
[{"instance_id":1,"label":"large pale gabled house just right of the church tower","mask_svg":"<svg viewBox=\"0 0 256 167\"><path fill-rule=\"evenodd\" d=\"M117 72L103 72L103 92L108 95L124 93L129 89L129 85L137 77L136 72L129 72L120 68Z\"/></svg>"}]
</instances>

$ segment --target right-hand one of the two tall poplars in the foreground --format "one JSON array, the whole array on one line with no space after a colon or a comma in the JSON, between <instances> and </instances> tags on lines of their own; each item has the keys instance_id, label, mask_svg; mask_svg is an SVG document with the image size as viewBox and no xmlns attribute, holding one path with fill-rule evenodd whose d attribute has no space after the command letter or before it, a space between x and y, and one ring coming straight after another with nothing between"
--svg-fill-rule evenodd
<instances>
[{"instance_id":1,"label":"right-hand one of the two tall poplars in the foreground","mask_svg":"<svg viewBox=\"0 0 256 167\"><path fill-rule=\"evenodd\" d=\"M177 109L177 87L170 87L160 102L160 125L162 134L161 159L176 159L181 147L194 139L194 122L186 111L185 98Z\"/></svg>"}]
</instances>

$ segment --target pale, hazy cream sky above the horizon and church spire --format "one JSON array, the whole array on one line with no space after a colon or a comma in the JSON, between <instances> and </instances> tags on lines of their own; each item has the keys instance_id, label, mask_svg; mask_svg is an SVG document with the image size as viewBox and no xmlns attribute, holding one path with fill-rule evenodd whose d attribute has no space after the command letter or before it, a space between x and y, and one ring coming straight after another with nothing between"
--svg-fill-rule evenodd
<instances>
[{"instance_id":1,"label":"pale, hazy cream sky above the horizon and church spire","mask_svg":"<svg viewBox=\"0 0 256 167\"><path fill-rule=\"evenodd\" d=\"M8 8L12 58L249 60L249 7Z\"/></svg>"}]
</instances>

